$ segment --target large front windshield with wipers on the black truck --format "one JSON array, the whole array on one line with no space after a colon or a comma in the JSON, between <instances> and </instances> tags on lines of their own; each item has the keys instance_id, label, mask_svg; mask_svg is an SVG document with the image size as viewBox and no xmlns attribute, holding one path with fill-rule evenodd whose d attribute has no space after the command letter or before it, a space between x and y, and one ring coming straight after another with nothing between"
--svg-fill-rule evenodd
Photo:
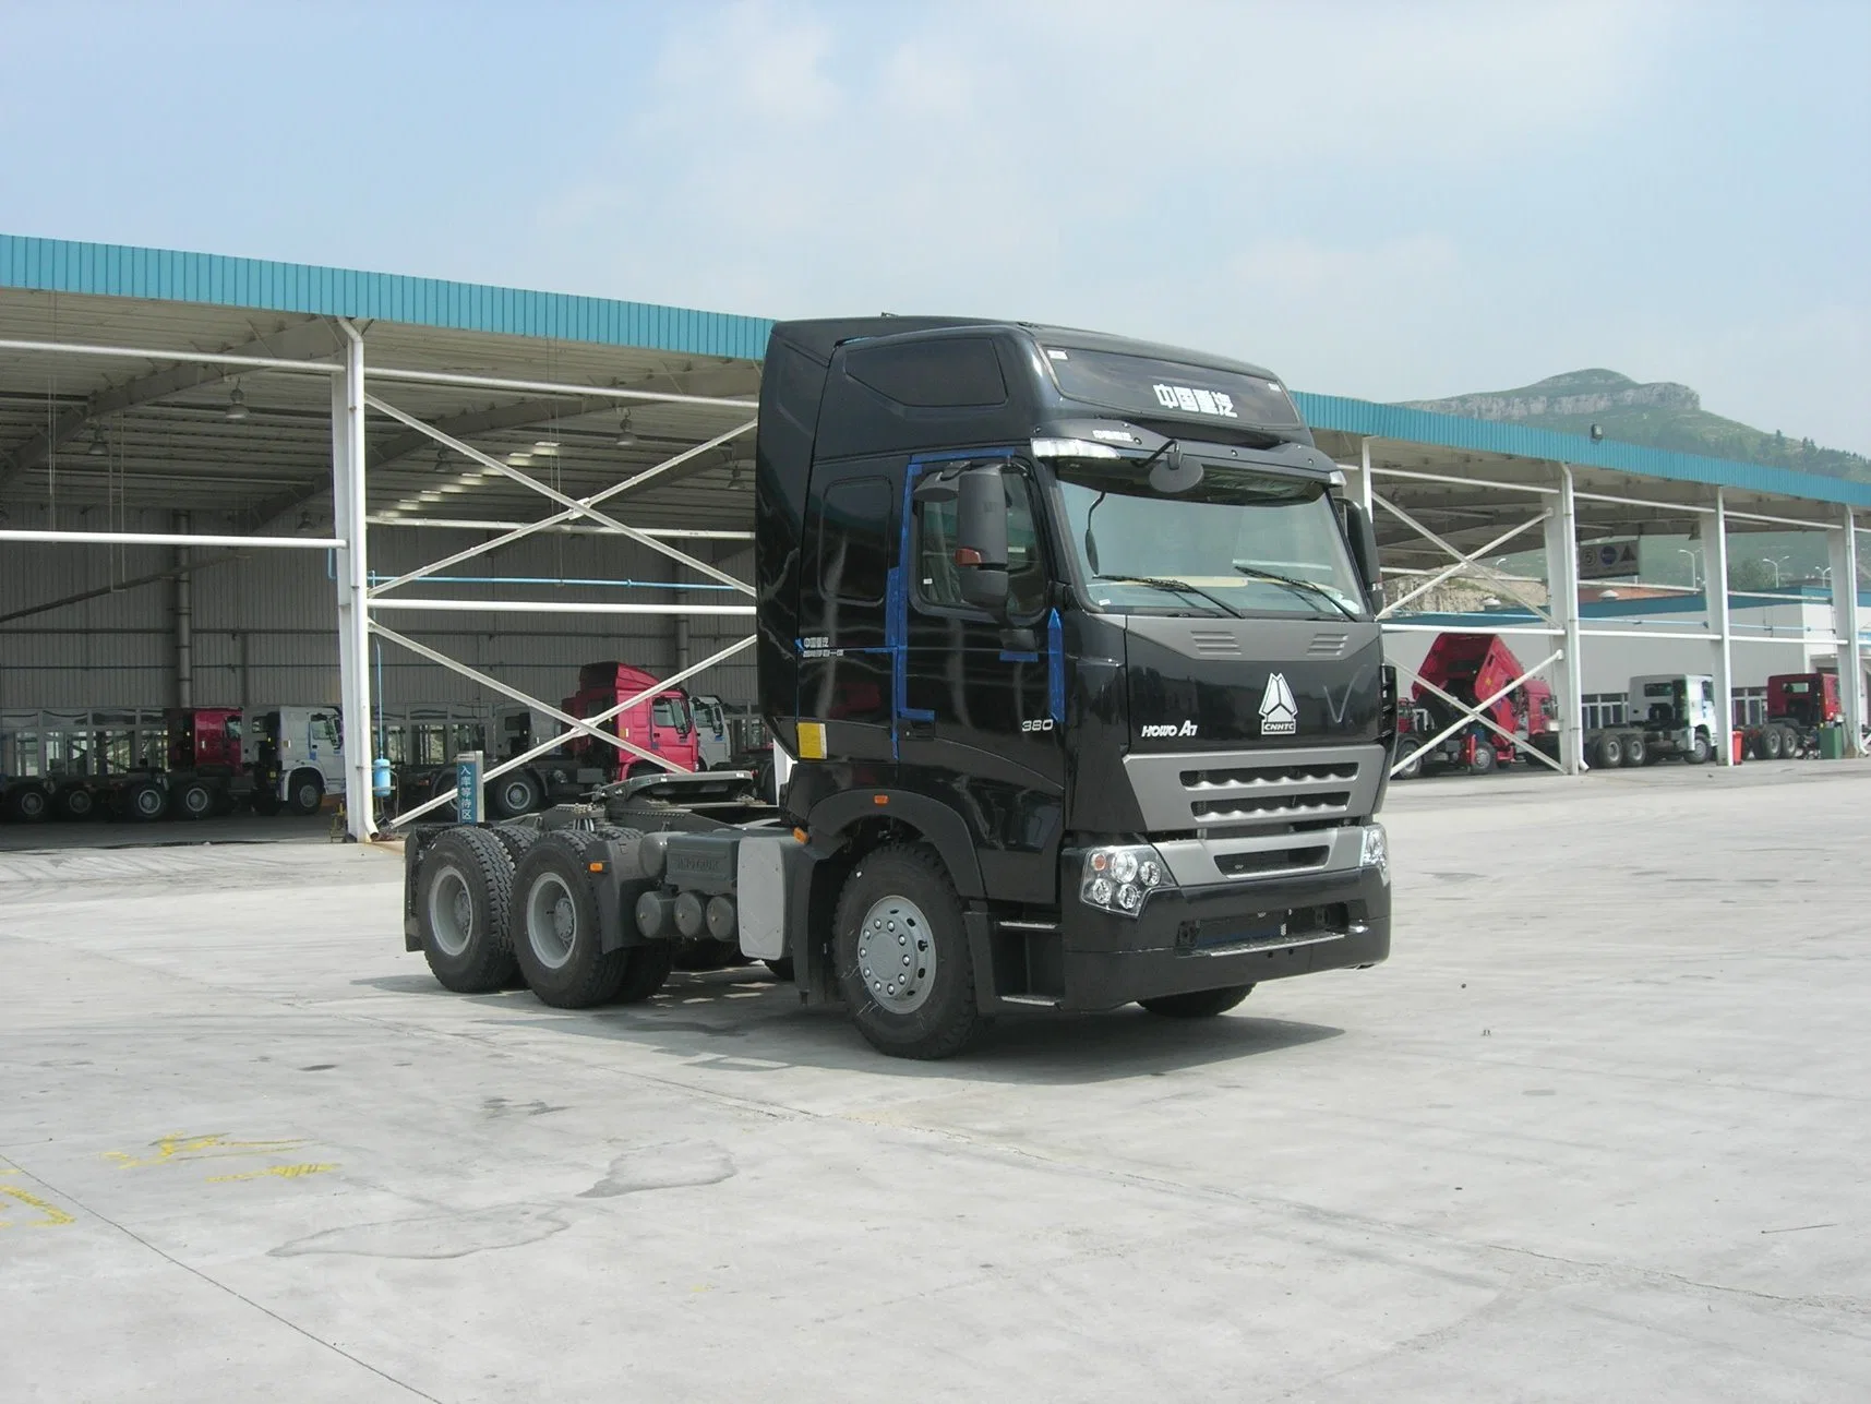
<instances>
[{"instance_id":1,"label":"large front windshield with wipers on the black truck","mask_svg":"<svg viewBox=\"0 0 1871 1404\"><path fill-rule=\"evenodd\" d=\"M1066 537L1113 612L1364 614L1323 483L1207 466L1160 496L1134 464L1059 464Z\"/></svg>"}]
</instances>

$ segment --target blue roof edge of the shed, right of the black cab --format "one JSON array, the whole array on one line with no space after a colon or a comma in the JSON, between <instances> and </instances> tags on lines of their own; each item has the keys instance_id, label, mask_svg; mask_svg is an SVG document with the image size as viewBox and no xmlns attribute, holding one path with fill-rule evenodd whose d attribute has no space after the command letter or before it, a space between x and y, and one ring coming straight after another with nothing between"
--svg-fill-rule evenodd
<instances>
[{"instance_id":1,"label":"blue roof edge of the shed, right of the black cab","mask_svg":"<svg viewBox=\"0 0 1871 1404\"><path fill-rule=\"evenodd\" d=\"M1474 449L1476 453L1508 453L1519 459L1549 459L1620 474L1667 477L1678 483L1729 487L1738 492L1772 492L1783 498L1817 498L1819 502L1871 507L1871 483L1854 483L1845 477L1820 477L1819 474L1796 474L1791 468L1766 468L1759 462L1646 449L1609 438L1594 444L1583 434L1560 434L1553 429L1532 429L1497 419L1461 419L1454 414L1349 401L1340 395L1295 391L1293 399L1313 429L1336 429L1345 434L1368 434L1405 444L1437 444L1452 449Z\"/></svg>"}]
</instances>

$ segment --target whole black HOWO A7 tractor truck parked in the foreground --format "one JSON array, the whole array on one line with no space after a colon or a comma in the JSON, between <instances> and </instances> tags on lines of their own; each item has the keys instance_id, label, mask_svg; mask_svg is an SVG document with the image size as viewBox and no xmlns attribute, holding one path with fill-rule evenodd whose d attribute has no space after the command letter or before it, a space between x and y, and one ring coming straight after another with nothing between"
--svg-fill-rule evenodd
<instances>
[{"instance_id":1,"label":"whole black HOWO A7 tractor truck parked in the foreground","mask_svg":"<svg viewBox=\"0 0 1871 1404\"><path fill-rule=\"evenodd\" d=\"M733 943L904 1058L1218 1015L1390 949L1377 545L1269 371L967 318L782 322L756 446L776 794L709 771L419 827L449 988L582 1007ZM745 786L735 790L735 786Z\"/></svg>"}]
</instances>

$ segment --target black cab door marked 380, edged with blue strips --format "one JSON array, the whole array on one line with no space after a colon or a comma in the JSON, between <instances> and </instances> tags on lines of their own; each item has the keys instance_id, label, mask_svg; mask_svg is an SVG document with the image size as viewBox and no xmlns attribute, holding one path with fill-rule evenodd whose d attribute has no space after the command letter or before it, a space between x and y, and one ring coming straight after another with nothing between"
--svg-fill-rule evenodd
<instances>
[{"instance_id":1,"label":"black cab door marked 380, edged with blue strips","mask_svg":"<svg viewBox=\"0 0 1871 1404\"><path fill-rule=\"evenodd\" d=\"M1008 620L1001 623L964 603L956 502L915 502L917 468L898 592L902 784L962 814L990 895L1048 904L1057 895L1065 818L1065 659L1037 526L1038 489L1020 468L1003 475Z\"/></svg>"}]
</instances>

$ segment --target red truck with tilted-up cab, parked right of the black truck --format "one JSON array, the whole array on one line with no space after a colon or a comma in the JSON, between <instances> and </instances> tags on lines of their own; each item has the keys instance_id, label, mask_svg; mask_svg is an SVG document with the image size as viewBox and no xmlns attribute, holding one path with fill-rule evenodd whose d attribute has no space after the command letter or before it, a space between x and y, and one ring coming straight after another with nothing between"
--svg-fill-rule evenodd
<instances>
[{"instance_id":1,"label":"red truck with tilted-up cab, parked right of the black truck","mask_svg":"<svg viewBox=\"0 0 1871 1404\"><path fill-rule=\"evenodd\" d=\"M1521 661L1514 657L1514 650L1501 635L1437 635L1416 670L1422 681L1411 689L1411 704L1401 708L1398 715L1396 753L1405 762L1398 769L1398 779L1413 779L1426 768L1486 775L1521 756L1519 747L1480 721L1467 721L1435 745L1422 745L1459 715L1458 708L1431 691L1429 683L1454 696L1463 708L1472 708L1482 698L1501 693L1521 672L1525 672ZM1521 738L1536 751L1559 758L1559 708L1553 704L1553 689L1547 683L1527 678L1482 711L1495 726ZM1529 762L1538 764L1530 756Z\"/></svg>"}]
</instances>

